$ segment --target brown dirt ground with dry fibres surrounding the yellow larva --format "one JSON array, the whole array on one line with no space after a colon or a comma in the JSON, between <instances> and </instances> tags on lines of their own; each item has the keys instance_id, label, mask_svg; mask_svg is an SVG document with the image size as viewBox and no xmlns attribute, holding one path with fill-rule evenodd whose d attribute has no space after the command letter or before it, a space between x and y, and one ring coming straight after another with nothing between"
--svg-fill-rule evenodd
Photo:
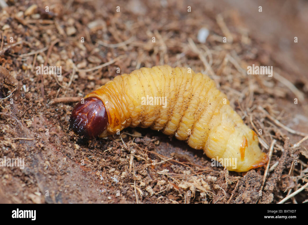
<instances>
[{"instance_id":1,"label":"brown dirt ground with dry fibres surrounding the yellow larva","mask_svg":"<svg viewBox=\"0 0 308 225\"><path fill-rule=\"evenodd\" d=\"M0 158L25 158L25 169L0 167L0 203L277 203L306 184L307 141L292 146L308 130L308 3L260 1L258 13L253 1L230 2L9 0L0 13ZM210 34L201 44L204 26ZM62 76L37 75L41 64L62 66ZM244 122L262 129L263 151L277 141L269 166L278 164L264 186L264 167L212 167L202 151L150 129L128 128L123 141L68 130L74 101L118 67L123 74L160 64L209 74ZM274 76L247 75L252 64L273 66ZM304 190L286 202L307 199Z\"/></svg>"}]
</instances>

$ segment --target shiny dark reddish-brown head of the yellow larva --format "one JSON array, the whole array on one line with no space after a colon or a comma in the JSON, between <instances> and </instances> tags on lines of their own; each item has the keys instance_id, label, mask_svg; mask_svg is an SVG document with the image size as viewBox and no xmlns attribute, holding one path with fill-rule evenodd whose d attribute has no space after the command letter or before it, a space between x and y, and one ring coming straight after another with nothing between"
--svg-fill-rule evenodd
<instances>
[{"instance_id":1,"label":"shiny dark reddish-brown head of the yellow larva","mask_svg":"<svg viewBox=\"0 0 308 225\"><path fill-rule=\"evenodd\" d=\"M108 125L105 106L97 97L88 97L79 102L70 117L70 129L80 136L97 138Z\"/></svg>"}]
</instances>

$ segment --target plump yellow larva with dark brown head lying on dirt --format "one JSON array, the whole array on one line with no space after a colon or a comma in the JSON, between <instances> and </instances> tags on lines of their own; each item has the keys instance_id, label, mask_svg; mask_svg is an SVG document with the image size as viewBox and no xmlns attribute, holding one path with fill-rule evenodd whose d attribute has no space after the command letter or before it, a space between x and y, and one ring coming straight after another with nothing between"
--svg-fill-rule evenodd
<instances>
[{"instance_id":1,"label":"plump yellow larva with dark brown head lying on dirt","mask_svg":"<svg viewBox=\"0 0 308 225\"><path fill-rule=\"evenodd\" d=\"M166 99L165 107L142 103L148 96ZM70 128L90 138L116 134L128 126L174 135L203 149L209 158L218 157L228 170L244 172L268 161L257 134L233 111L214 81L187 68L154 66L116 76L86 95L70 118ZM236 167L221 159L235 159Z\"/></svg>"}]
</instances>

